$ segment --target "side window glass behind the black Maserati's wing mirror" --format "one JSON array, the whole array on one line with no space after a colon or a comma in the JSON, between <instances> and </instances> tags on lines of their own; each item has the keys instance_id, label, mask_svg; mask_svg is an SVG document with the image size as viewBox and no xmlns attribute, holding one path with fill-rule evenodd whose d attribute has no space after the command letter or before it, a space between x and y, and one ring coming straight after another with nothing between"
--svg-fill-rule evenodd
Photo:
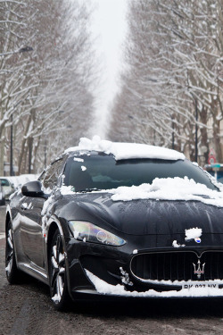
<instances>
[{"instance_id":1,"label":"side window glass behind the black Maserati's wing mirror","mask_svg":"<svg viewBox=\"0 0 223 335\"><path fill-rule=\"evenodd\" d=\"M57 160L50 165L50 167L42 174L40 181L42 181L44 188L51 190L57 185L58 178L62 173L63 159Z\"/></svg>"}]
</instances>

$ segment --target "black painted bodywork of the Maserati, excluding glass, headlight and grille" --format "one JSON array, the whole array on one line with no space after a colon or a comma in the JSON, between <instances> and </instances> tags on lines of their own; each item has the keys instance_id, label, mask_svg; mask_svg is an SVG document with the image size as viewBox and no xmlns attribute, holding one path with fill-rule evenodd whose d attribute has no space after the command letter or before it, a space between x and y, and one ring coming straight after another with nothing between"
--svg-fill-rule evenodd
<instances>
[{"instance_id":1,"label":"black painted bodywork of the Maserati, excluding glass, headlight and grille","mask_svg":"<svg viewBox=\"0 0 223 335\"><path fill-rule=\"evenodd\" d=\"M112 201L106 192L74 193L62 196L54 191L54 203L41 214L47 197L12 197L11 216L17 263L21 269L48 283L47 242L43 233L43 216L62 229L68 264L70 295L94 293L84 269L112 285L122 283L120 268L129 273L133 286L128 290L167 289L164 284L143 283L130 272L130 263L137 253L174 250L174 240L185 244L184 250L201 255L204 250L223 250L223 209L195 201L133 200ZM24 208L24 203L27 204ZM30 205L30 207L29 207ZM53 215L53 216L52 216ZM127 241L124 246L111 247L85 243L72 237L68 222L91 222ZM202 228L202 242L185 240L185 230ZM47 227L50 230L50 225ZM31 264L32 269L23 266ZM35 272L36 271L36 272ZM176 289L175 285L171 289ZM179 289L179 288L178 288Z\"/></svg>"}]
</instances>

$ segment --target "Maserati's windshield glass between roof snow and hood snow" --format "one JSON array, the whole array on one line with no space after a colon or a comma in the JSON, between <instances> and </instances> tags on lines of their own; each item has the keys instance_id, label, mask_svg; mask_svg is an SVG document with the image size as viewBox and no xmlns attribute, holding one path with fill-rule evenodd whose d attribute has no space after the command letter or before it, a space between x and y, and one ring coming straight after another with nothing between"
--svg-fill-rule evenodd
<instances>
[{"instance_id":1,"label":"Maserati's windshield glass between roof snow and hood snow","mask_svg":"<svg viewBox=\"0 0 223 335\"><path fill-rule=\"evenodd\" d=\"M155 178L188 177L211 189L216 188L205 172L188 160L128 159L116 161L113 155L95 153L70 157L64 170L65 186L73 191L111 189L152 183Z\"/></svg>"}]
</instances>

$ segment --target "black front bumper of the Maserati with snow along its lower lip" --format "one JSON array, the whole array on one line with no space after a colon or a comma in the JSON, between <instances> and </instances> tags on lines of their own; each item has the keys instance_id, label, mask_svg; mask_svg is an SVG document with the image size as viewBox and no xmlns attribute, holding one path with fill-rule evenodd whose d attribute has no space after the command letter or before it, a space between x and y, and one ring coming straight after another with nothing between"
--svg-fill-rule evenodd
<instances>
[{"instance_id":1,"label":"black front bumper of the Maserati with snow along its lower lip","mask_svg":"<svg viewBox=\"0 0 223 335\"><path fill-rule=\"evenodd\" d=\"M67 244L70 296L75 299L223 297L223 280L205 281L216 283L217 288L192 289L184 288L184 284L191 281L138 280L130 270L131 261L136 256L133 250L129 246L109 247L70 239ZM195 282L199 284L201 281Z\"/></svg>"}]
</instances>

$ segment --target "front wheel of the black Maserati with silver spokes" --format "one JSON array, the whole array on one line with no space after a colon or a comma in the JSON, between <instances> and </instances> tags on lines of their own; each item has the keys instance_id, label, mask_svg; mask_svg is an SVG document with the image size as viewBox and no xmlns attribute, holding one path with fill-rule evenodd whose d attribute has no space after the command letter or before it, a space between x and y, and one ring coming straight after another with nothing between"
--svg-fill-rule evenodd
<instances>
[{"instance_id":1,"label":"front wheel of the black Maserati with silver spokes","mask_svg":"<svg viewBox=\"0 0 223 335\"><path fill-rule=\"evenodd\" d=\"M70 296L66 277L65 252L59 230L54 232L50 247L49 279L50 295L54 308L58 311L65 310L70 305Z\"/></svg>"}]
</instances>

